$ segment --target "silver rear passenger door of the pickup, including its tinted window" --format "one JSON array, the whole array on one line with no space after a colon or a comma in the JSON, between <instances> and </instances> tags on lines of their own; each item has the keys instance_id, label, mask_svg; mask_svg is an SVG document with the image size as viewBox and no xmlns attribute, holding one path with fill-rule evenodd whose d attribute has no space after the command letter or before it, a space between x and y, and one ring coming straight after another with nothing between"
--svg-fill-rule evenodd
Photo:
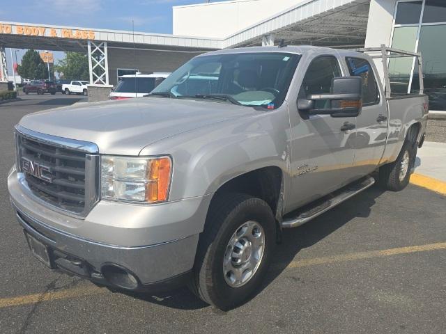
<instances>
[{"instance_id":1,"label":"silver rear passenger door of the pickup, including its tinted window","mask_svg":"<svg viewBox=\"0 0 446 334\"><path fill-rule=\"evenodd\" d=\"M356 133L348 145L355 150L354 172L371 173L379 164L387 139L387 105L380 93L374 67L366 58L346 57L349 75L362 78L362 111L356 118ZM391 135L391 134L390 134Z\"/></svg>"}]
</instances>

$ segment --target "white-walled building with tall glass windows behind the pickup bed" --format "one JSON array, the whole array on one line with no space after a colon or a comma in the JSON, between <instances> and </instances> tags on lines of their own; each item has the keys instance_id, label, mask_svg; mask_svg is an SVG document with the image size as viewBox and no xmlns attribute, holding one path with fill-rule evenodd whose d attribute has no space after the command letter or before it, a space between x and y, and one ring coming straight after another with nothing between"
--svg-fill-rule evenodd
<instances>
[{"instance_id":1,"label":"white-walled building with tall glass windows behind the pickup bed","mask_svg":"<svg viewBox=\"0 0 446 334\"><path fill-rule=\"evenodd\" d=\"M365 45L422 54L430 111L446 112L446 0L371 0ZM391 58L392 92L420 89L413 58Z\"/></svg>"}]
</instances>

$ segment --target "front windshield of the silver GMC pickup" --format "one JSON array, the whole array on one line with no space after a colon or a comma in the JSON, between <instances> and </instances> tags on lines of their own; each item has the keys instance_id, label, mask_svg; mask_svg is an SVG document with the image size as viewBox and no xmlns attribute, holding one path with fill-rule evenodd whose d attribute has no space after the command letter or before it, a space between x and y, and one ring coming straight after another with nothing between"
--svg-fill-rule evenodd
<instances>
[{"instance_id":1,"label":"front windshield of the silver GMC pickup","mask_svg":"<svg viewBox=\"0 0 446 334\"><path fill-rule=\"evenodd\" d=\"M153 95L219 98L275 109L285 99L300 56L284 52L198 56L170 74Z\"/></svg>"}]
</instances>

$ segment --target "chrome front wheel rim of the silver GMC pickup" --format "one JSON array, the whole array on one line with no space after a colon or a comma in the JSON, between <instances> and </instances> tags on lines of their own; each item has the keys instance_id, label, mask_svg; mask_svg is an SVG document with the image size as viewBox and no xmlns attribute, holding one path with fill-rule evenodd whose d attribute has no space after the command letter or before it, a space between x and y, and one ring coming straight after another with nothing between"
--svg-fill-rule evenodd
<instances>
[{"instance_id":1,"label":"chrome front wheel rim of the silver GMC pickup","mask_svg":"<svg viewBox=\"0 0 446 334\"><path fill-rule=\"evenodd\" d=\"M265 232L256 221L247 221L232 234L223 258L223 276L230 287L242 287L254 277L263 260Z\"/></svg>"}]
</instances>

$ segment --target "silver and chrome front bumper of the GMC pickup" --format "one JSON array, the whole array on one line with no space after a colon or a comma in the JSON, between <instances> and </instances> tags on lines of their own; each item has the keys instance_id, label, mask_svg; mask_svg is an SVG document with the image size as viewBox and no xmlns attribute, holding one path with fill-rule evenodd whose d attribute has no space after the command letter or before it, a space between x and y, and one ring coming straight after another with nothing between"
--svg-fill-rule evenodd
<instances>
[{"instance_id":1,"label":"silver and chrome front bumper of the GMC pickup","mask_svg":"<svg viewBox=\"0 0 446 334\"><path fill-rule=\"evenodd\" d=\"M175 283L193 267L201 232L195 218L204 222L206 211L201 212L201 206L206 204L202 203L204 198L192 209L193 214L185 209L192 204L187 200L178 201L183 202L183 208L178 207L178 202L142 206L104 201L105 207L99 202L81 219L33 200L15 171L8 176L8 190L17 220L28 234L48 247L54 267L115 286L107 279L106 271L110 266L121 268L137 279L137 287L131 288L134 290ZM182 221L178 220L180 216ZM176 221L171 221L172 218ZM100 234L101 237L91 237ZM165 239L167 235L171 239Z\"/></svg>"}]
</instances>

